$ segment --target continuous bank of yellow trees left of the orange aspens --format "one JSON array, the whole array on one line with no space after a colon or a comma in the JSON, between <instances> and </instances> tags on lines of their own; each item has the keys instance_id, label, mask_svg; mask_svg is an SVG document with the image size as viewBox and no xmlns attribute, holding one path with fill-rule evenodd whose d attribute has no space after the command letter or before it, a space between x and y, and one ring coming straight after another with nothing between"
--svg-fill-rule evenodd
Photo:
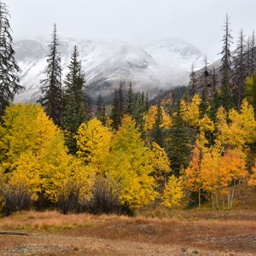
<instances>
[{"instance_id":1,"label":"continuous bank of yellow trees left of the orange aspens","mask_svg":"<svg viewBox=\"0 0 256 256\"><path fill-rule=\"evenodd\" d=\"M77 154L68 154L62 131L43 108L10 106L0 126L0 189L25 191L32 201L43 194L56 203L75 187L79 200L88 201L96 178L104 177L113 184L121 204L131 209L162 196L156 187L170 176L169 160L156 143L148 147L143 142L131 117L126 116L116 132L91 119L80 125L76 140ZM177 178L170 178L166 193L176 182Z\"/></svg>"}]
</instances>

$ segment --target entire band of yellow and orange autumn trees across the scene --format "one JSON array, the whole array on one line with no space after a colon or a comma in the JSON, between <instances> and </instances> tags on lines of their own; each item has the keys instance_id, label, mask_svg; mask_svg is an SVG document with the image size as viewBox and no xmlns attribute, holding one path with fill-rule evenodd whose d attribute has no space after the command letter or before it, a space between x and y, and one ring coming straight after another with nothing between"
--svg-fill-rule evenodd
<instances>
[{"instance_id":1,"label":"entire band of yellow and orange autumn trees across the scene","mask_svg":"<svg viewBox=\"0 0 256 256\"><path fill-rule=\"evenodd\" d=\"M212 206L231 208L237 184L256 185L256 166L250 145L256 143L253 107L244 101L240 110L219 108L217 121L201 117L201 99L181 102L184 122L197 131L187 169L172 175L170 161L157 143L145 143L130 116L118 131L97 119L83 123L75 136L77 154L68 154L63 132L33 104L6 109L0 126L0 191L19 189L38 201L44 195L57 203L78 188L79 201L90 201L96 179L108 179L122 205L136 210L160 199L168 208L178 206L184 195L201 191L211 195ZM163 112L163 127L172 118ZM153 129L156 107L145 116L145 131ZM174 113L175 114L175 113ZM213 142L213 143L212 143ZM0 194L1 197L1 194ZM0 198L0 202L3 198Z\"/></svg>"}]
</instances>

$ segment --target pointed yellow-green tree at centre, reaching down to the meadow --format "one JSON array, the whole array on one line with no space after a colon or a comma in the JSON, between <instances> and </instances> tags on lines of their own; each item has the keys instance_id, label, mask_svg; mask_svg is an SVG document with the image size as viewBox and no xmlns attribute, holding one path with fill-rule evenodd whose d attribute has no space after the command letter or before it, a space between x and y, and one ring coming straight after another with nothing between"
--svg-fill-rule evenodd
<instances>
[{"instance_id":1,"label":"pointed yellow-green tree at centre, reaching down to the meadow","mask_svg":"<svg viewBox=\"0 0 256 256\"><path fill-rule=\"evenodd\" d=\"M157 193L151 163L152 154L145 146L135 122L125 116L115 134L108 157L108 176L119 191L120 201L137 209L153 201Z\"/></svg>"}]
</instances>

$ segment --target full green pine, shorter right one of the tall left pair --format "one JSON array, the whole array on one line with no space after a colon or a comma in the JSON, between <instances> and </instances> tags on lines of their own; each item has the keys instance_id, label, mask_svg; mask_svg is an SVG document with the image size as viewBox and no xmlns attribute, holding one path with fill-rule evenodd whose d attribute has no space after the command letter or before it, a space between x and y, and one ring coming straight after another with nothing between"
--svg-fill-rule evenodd
<instances>
[{"instance_id":1,"label":"full green pine, shorter right one of the tall left pair","mask_svg":"<svg viewBox=\"0 0 256 256\"><path fill-rule=\"evenodd\" d=\"M75 46L68 65L68 73L65 80L66 89L64 92L63 106L63 128L66 133L66 143L70 152L76 152L76 141L73 138L79 126L89 119L88 104L84 96L84 72L79 51Z\"/></svg>"}]
</instances>

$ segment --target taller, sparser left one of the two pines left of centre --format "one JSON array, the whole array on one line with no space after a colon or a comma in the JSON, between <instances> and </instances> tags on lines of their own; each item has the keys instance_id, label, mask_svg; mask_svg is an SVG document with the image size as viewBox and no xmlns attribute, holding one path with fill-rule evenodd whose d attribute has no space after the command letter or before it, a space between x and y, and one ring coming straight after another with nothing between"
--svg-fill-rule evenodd
<instances>
[{"instance_id":1,"label":"taller, sparser left one of the two pines left of centre","mask_svg":"<svg viewBox=\"0 0 256 256\"><path fill-rule=\"evenodd\" d=\"M47 115L54 120L55 125L62 124L62 90L61 90L61 55L58 51L59 39L56 25L49 44L47 67L44 70L45 79L40 81L42 96L39 102Z\"/></svg>"}]
</instances>

